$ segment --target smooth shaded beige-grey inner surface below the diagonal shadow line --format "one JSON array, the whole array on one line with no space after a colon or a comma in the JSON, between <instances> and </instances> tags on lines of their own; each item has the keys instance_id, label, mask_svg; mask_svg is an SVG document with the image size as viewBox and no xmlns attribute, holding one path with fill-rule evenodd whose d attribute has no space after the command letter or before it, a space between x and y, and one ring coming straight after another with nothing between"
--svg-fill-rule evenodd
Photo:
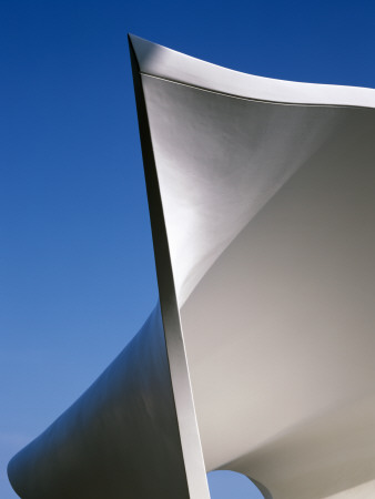
<instances>
[{"instance_id":1,"label":"smooth shaded beige-grey inner surface below the diagonal shadow line","mask_svg":"<svg viewBox=\"0 0 375 499\"><path fill-rule=\"evenodd\" d=\"M373 493L375 116L342 112L182 308L206 466L275 499Z\"/></svg>"}]
</instances>

